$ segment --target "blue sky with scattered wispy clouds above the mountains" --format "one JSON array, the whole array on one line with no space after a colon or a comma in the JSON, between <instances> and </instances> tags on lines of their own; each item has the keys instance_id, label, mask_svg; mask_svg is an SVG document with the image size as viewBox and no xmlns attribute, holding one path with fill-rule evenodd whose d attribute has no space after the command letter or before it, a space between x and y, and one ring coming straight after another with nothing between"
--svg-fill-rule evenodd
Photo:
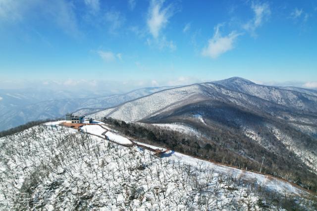
<instances>
[{"instance_id":1,"label":"blue sky with scattered wispy clouds above the mountains","mask_svg":"<svg viewBox=\"0 0 317 211\"><path fill-rule=\"evenodd\" d=\"M317 0L0 0L0 75L0 88L317 88Z\"/></svg>"}]
</instances>

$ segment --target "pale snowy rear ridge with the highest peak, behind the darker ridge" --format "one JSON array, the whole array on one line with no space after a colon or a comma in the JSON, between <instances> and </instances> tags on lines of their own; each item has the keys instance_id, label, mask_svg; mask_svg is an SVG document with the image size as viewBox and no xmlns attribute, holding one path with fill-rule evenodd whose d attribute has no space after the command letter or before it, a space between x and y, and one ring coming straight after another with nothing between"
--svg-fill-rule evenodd
<instances>
[{"instance_id":1,"label":"pale snowy rear ridge with the highest peak, behind the darker ridge","mask_svg":"<svg viewBox=\"0 0 317 211\"><path fill-rule=\"evenodd\" d=\"M140 121L176 107L212 99L278 115L282 119L317 123L316 120L305 120L307 112L317 113L317 96L308 94L306 89L303 92L298 90L258 85L235 77L162 90L93 115L98 118L106 116L124 121ZM296 112L296 115L290 111Z\"/></svg>"}]
</instances>

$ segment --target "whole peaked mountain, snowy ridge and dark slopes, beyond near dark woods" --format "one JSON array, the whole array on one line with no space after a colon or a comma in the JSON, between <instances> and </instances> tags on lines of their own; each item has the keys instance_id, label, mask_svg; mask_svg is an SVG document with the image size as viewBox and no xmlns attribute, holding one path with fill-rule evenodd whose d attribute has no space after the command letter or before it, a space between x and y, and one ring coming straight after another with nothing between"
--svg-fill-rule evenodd
<instances>
[{"instance_id":1,"label":"whole peaked mountain, snowy ridge and dark slopes, beyond near dark woods","mask_svg":"<svg viewBox=\"0 0 317 211\"><path fill-rule=\"evenodd\" d=\"M195 131L205 142L237 156L260 164L264 160L265 166L285 172L294 169L294 175L311 175L317 181L315 90L234 77L161 90L91 117L190 128L189 133Z\"/></svg>"}]
</instances>

